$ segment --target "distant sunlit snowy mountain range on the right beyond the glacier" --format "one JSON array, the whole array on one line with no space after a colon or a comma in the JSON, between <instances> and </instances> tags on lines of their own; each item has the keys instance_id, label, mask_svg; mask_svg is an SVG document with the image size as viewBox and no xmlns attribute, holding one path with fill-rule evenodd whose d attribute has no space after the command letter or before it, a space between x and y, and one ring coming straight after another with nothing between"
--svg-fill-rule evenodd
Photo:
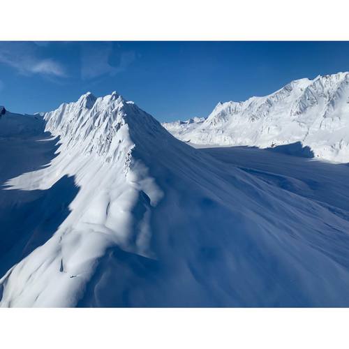
<instances>
[{"instance_id":1,"label":"distant sunlit snowy mountain range on the right beyond the glacier","mask_svg":"<svg viewBox=\"0 0 349 349\"><path fill-rule=\"evenodd\" d=\"M205 121L163 126L193 144L261 148L301 142L315 157L349 161L349 73L301 79L265 97L218 103Z\"/></svg>"}]
</instances>

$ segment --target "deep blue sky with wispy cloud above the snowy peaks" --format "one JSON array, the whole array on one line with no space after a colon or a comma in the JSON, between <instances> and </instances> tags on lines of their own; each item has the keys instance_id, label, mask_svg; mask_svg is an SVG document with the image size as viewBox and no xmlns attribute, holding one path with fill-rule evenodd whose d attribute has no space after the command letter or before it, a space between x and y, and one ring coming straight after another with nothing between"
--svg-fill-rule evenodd
<instances>
[{"instance_id":1,"label":"deep blue sky with wispy cloud above the snowy peaks","mask_svg":"<svg viewBox=\"0 0 349 349\"><path fill-rule=\"evenodd\" d=\"M160 121L349 70L349 42L0 42L0 105L40 112L117 91Z\"/></svg>"}]
</instances>

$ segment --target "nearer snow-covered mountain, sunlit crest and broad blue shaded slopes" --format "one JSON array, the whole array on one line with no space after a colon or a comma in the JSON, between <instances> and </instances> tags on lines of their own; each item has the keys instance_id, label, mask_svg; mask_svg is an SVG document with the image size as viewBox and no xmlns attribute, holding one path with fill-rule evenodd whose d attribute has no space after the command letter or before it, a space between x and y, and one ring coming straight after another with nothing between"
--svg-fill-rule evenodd
<instances>
[{"instance_id":1,"label":"nearer snow-covered mountain, sunlit crest and broad blue shaded slopes","mask_svg":"<svg viewBox=\"0 0 349 349\"><path fill-rule=\"evenodd\" d=\"M44 119L59 149L34 135L36 170L0 142L17 161L1 306L349 305L346 207L193 149L115 93Z\"/></svg>"}]
</instances>

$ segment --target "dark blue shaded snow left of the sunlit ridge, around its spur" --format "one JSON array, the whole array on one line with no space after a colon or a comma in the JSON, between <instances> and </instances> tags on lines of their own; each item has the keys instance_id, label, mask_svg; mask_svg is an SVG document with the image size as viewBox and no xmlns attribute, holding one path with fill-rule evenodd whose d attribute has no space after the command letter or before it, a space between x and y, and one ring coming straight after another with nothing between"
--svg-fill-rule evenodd
<instances>
[{"instance_id":1,"label":"dark blue shaded snow left of the sunlit ridge, around its spur","mask_svg":"<svg viewBox=\"0 0 349 349\"><path fill-rule=\"evenodd\" d=\"M47 167L57 156L57 139L45 139L47 136L40 141L0 140L0 278L52 237L70 214L70 202L79 191L74 177L68 176L47 190L25 191L6 185L10 178Z\"/></svg>"}]
</instances>

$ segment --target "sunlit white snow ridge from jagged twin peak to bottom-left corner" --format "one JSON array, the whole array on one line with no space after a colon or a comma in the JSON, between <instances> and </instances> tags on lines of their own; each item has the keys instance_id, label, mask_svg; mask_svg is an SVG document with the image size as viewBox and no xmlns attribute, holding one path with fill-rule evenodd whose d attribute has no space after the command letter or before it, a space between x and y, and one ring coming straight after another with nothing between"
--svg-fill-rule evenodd
<instances>
[{"instance_id":1,"label":"sunlit white snow ridge from jagged twin peak to bottom-left corner","mask_svg":"<svg viewBox=\"0 0 349 349\"><path fill-rule=\"evenodd\" d=\"M47 191L73 176L80 191L52 238L3 277L5 306L74 305L108 246L149 254L148 211L162 195L141 161L131 156L131 135L137 141L151 138L156 127L166 131L133 103L117 94L86 94L44 118L46 130L60 137L59 155L43 170L10 179L7 189Z\"/></svg>"}]
</instances>

